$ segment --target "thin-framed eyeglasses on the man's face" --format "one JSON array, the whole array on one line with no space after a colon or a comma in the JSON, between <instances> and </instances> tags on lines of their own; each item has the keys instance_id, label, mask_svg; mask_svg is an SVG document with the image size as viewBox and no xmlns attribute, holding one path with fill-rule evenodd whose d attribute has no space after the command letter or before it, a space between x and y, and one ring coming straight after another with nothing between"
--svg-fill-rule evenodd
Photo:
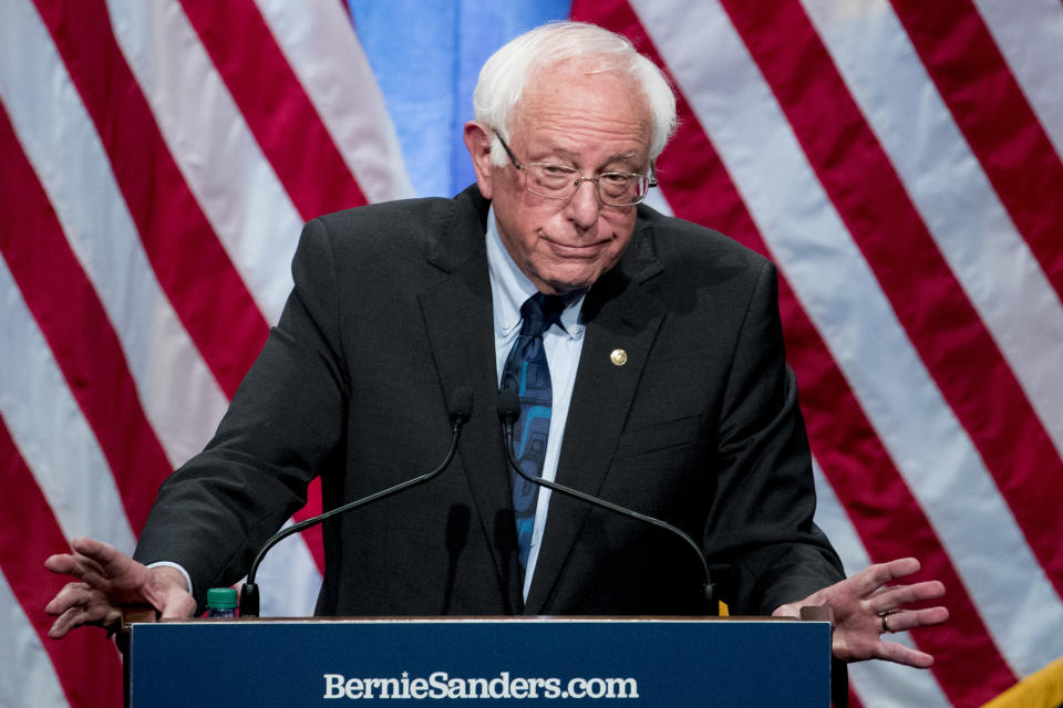
<instances>
[{"instance_id":1,"label":"thin-framed eyeglasses on the man's face","mask_svg":"<svg viewBox=\"0 0 1063 708\"><path fill-rule=\"evenodd\" d=\"M646 199L650 187L657 187L657 175L650 166L649 175L634 173L601 173L597 177L584 177L579 170L566 165L532 163L522 165L498 133L498 142L506 149L509 162L527 176L524 188L547 199L571 199L585 181L595 183L598 201L607 207L633 207Z\"/></svg>"}]
</instances>

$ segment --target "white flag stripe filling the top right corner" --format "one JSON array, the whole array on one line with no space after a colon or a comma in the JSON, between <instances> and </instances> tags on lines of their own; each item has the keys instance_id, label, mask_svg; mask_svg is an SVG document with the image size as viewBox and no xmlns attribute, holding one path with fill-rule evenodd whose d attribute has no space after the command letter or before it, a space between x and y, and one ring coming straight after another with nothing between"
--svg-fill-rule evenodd
<instances>
[{"instance_id":1,"label":"white flag stripe filling the top right corner","mask_svg":"<svg viewBox=\"0 0 1063 708\"><path fill-rule=\"evenodd\" d=\"M1063 3L974 0L974 6L1063 159Z\"/></svg>"}]
</instances>

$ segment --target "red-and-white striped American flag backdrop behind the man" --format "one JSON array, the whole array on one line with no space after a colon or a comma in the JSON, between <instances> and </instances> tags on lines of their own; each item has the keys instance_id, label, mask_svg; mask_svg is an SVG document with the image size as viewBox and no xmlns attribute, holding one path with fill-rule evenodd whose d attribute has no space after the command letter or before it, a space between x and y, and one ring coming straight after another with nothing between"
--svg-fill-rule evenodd
<instances>
[{"instance_id":1,"label":"red-and-white striped American flag backdrop behind the man","mask_svg":"<svg viewBox=\"0 0 1063 708\"><path fill-rule=\"evenodd\" d=\"M1063 655L1063 3L518 4L0 0L0 706L121 704L103 632L45 636L44 558L132 550L301 223L464 187L476 70L565 17L674 83L653 206L780 266L847 570L948 586L948 624L895 637L933 668L856 665L854 705L981 706ZM278 546L264 614L308 614L321 562Z\"/></svg>"}]
</instances>

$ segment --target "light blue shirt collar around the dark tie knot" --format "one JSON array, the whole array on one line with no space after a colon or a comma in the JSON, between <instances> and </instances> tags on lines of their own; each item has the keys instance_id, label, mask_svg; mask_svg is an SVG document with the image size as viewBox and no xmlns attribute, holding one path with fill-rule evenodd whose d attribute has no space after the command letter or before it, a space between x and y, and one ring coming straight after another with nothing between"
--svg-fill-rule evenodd
<instances>
[{"instance_id":1,"label":"light blue shirt collar around the dark tie knot","mask_svg":"<svg viewBox=\"0 0 1063 708\"><path fill-rule=\"evenodd\" d=\"M487 271L491 274L495 334L507 337L520 324L520 305L536 293L536 288L503 244L495 221L494 206L487 212ZM586 294L582 292L567 299L565 310L561 311L561 326L574 339L584 331L580 310Z\"/></svg>"}]
</instances>

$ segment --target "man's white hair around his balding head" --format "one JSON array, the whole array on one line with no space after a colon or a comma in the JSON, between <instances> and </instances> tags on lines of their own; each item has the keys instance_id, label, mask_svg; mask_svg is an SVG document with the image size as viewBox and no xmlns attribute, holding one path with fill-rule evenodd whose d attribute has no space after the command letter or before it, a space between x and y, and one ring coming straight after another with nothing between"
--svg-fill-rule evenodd
<instances>
[{"instance_id":1,"label":"man's white hair around his balding head","mask_svg":"<svg viewBox=\"0 0 1063 708\"><path fill-rule=\"evenodd\" d=\"M619 71L641 88L652 117L650 159L664 149L675 129L675 94L657 65L639 54L619 34L586 22L553 22L509 41L491 55L479 71L473 92L476 121L509 140L509 121L528 81L539 71L568 59L586 60L594 71ZM492 162L503 166L508 158L492 136Z\"/></svg>"}]
</instances>

